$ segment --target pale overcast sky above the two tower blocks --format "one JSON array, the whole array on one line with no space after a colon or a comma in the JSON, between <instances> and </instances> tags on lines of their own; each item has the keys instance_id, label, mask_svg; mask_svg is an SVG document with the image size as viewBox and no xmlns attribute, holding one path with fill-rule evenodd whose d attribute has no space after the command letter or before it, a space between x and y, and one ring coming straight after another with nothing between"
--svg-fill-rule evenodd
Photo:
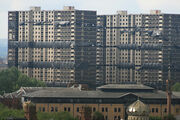
<instances>
[{"instance_id":1,"label":"pale overcast sky above the two tower blocks","mask_svg":"<svg viewBox=\"0 0 180 120\"><path fill-rule=\"evenodd\" d=\"M180 14L179 5L180 0L0 0L0 39L7 38L8 11L28 10L30 6L41 6L43 10L75 6L76 9L97 10L98 14L115 14L117 10L149 13L151 9Z\"/></svg>"}]
</instances>

